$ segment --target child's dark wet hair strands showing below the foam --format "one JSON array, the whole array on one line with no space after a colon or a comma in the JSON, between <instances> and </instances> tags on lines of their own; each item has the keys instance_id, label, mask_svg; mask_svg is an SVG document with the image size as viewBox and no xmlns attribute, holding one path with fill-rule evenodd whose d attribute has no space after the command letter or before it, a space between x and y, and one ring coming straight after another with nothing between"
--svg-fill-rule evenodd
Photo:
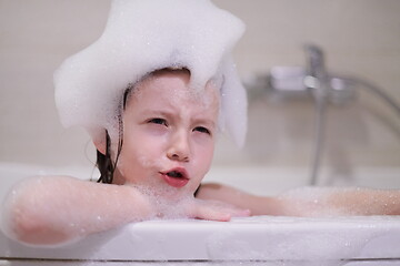
<instances>
[{"instance_id":1,"label":"child's dark wet hair strands showing below the foam","mask_svg":"<svg viewBox=\"0 0 400 266\"><path fill-rule=\"evenodd\" d=\"M118 158L121 154L122 151L122 143L123 143L123 122L122 122L122 112L126 110L127 108L127 102L128 102L128 98L130 95L130 93L133 91L136 84L140 83L141 81L153 76L158 73L162 73L162 72L173 72L173 71L181 71L181 72L186 72L190 75L190 70L187 68L182 68L182 69L170 69L170 68L164 68L164 69L159 69L156 70L153 72L150 72L149 74L144 75L141 80L139 80L137 83L129 83L127 89L123 92L123 98L121 101L121 108L119 109L119 113L117 115L118 119L118 147L117 147L117 154L116 154L116 161L112 162L112 157L111 157L111 137L108 133L108 131L106 130L106 153L102 154L99 150L97 150L97 161L96 161L96 166L99 168L100 172L100 177L97 181L98 183L106 183L106 184L112 184L113 181L113 175L117 168L117 163L118 163Z\"/></svg>"}]
</instances>

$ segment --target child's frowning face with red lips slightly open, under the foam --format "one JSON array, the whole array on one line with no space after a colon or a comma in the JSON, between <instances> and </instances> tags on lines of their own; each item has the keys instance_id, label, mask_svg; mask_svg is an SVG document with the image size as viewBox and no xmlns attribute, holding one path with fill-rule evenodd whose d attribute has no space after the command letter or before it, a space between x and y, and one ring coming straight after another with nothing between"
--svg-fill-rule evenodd
<instances>
[{"instance_id":1,"label":"child's frowning face with red lips slightly open, under the foam","mask_svg":"<svg viewBox=\"0 0 400 266\"><path fill-rule=\"evenodd\" d=\"M123 113L118 170L126 184L166 196L192 195L209 171L219 98L189 89L189 73L161 71L140 82Z\"/></svg>"}]
</instances>

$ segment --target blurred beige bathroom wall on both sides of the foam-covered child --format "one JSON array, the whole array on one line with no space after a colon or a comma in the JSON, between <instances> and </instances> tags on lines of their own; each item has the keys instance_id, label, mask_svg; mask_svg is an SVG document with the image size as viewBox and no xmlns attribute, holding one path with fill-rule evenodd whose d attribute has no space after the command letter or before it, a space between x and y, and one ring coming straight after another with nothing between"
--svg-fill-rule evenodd
<instances>
[{"instance_id":1,"label":"blurred beige bathroom wall on both sides of the foam-covered child","mask_svg":"<svg viewBox=\"0 0 400 266\"><path fill-rule=\"evenodd\" d=\"M273 65L304 65L302 45L327 53L328 69L368 79L400 102L400 1L216 0L247 23L236 49L243 79ZM93 147L80 129L62 129L52 72L101 33L107 0L0 0L0 161L90 165ZM222 140L217 164L309 165L312 101L250 103L242 151ZM369 93L332 106L326 165L400 166L400 117Z\"/></svg>"}]
</instances>

